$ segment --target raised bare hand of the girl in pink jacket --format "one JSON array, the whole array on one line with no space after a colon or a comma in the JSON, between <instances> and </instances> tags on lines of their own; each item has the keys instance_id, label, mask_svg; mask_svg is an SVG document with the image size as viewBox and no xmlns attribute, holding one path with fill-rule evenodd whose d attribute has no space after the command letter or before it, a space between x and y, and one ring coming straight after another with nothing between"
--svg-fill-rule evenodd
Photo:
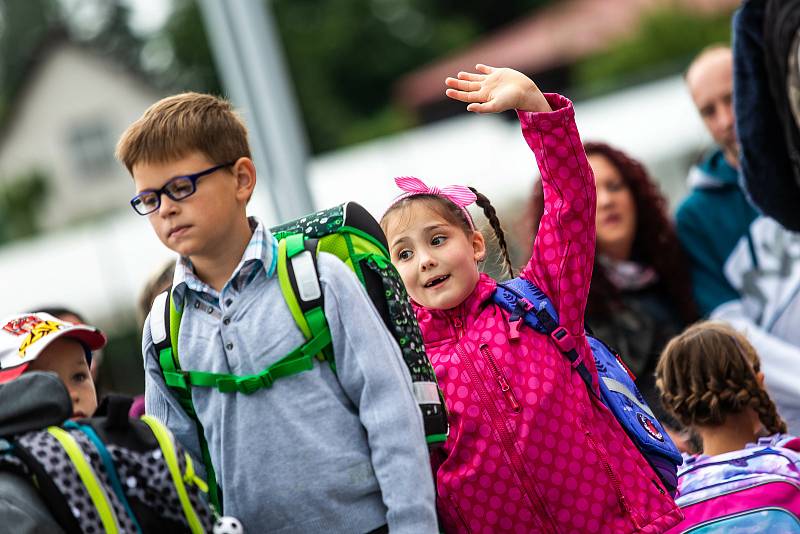
<instances>
[{"instance_id":1,"label":"raised bare hand of the girl in pink jacket","mask_svg":"<svg viewBox=\"0 0 800 534\"><path fill-rule=\"evenodd\" d=\"M453 100L467 102L467 111L499 113L509 109L553 111L533 81L514 69L475 65L473 72L459 72L458 78L447 78L445 94Z\"/></svg>"}]
</instances>

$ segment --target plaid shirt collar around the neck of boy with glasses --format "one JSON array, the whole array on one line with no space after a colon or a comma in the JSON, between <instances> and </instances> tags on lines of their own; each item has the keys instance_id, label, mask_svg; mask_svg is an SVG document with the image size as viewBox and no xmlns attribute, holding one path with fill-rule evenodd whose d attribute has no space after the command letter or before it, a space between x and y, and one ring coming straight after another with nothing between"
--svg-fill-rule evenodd
<instances>
[{"instance_id":1,"label":"plaid shirt collar around the neck of boy with glasses","mask_svg":"<svg viewBox=\"0 0 800 534\"><path fill-rule=\"evenodd\" d=\"M239 265L236 266L230 279L225 283L223 291L230 284L238 284L240 287L244 287L261 272L264 272L267 278L271 278L275 274L275 268L278 263L278 241L258 218L248 217L247 221L250 224L253 235L244 249ZM175 263L172 287L172 298L176 305L182 306L187 289L198 293L206 293L215 299L219 298L219 292L197 277L191 260L185 256L179 257Z\"/></svg>"}]
</instances>

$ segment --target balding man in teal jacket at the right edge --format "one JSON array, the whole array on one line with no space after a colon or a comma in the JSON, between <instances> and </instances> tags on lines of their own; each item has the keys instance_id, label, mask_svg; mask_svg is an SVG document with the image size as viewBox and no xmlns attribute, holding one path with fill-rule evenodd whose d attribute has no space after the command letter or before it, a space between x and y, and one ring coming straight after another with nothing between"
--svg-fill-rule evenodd
<instances>
[{"instance_id":1,"label":"balding man in teal jacket at the right edge","mask_svg":"<svg viewBox=\"0 0 800 534\"><path fill-rule=\"evenodd\" d=\"M800 235L759 216L739 185L733 108L733 55L702 51L686 85L717 143L689 173L691 192L678 208L678 237L691 263L701 313L747 334L762 358L770 393L790 432L800 432Z\"/></svg>"}]
</instances>

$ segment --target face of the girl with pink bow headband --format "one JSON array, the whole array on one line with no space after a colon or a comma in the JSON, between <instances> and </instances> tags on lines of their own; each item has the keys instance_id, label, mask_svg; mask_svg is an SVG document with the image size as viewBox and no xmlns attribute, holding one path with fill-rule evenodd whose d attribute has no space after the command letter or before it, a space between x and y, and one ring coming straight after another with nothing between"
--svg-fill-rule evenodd
<instances>
[{"instance_id":1,"label":"face of the girl with pink bow headband","mask_svg":"<svg viewBox=\"0 0 800 534\"><path fill-rule=\"evenodd\" d=\"M424 202L389 214L386 228L392 263L418 304L447 310L475 289L486 254L480 232L465 234Z\"/></svg>"}]
</instances>

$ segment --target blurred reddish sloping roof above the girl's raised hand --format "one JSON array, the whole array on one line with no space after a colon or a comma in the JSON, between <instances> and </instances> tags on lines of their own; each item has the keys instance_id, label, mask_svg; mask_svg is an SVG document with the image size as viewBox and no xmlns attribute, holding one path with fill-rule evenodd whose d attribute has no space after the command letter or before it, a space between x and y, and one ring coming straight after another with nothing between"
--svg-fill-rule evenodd
<instances>
[{"instance_id":1,"label":"blurred reddish sloping roof above the girl's raised hand","mask_svg":"<svg viewBox=\"0 0 800 534\"><path fill-rule=\"evenodd\" d=\"M740 0L562 0L401 78L397 98L420 108L443 98L447 76L476 63L536 73L569 65L630 35L653 9L730 12Z\"/></svg>"}]
</instances>

